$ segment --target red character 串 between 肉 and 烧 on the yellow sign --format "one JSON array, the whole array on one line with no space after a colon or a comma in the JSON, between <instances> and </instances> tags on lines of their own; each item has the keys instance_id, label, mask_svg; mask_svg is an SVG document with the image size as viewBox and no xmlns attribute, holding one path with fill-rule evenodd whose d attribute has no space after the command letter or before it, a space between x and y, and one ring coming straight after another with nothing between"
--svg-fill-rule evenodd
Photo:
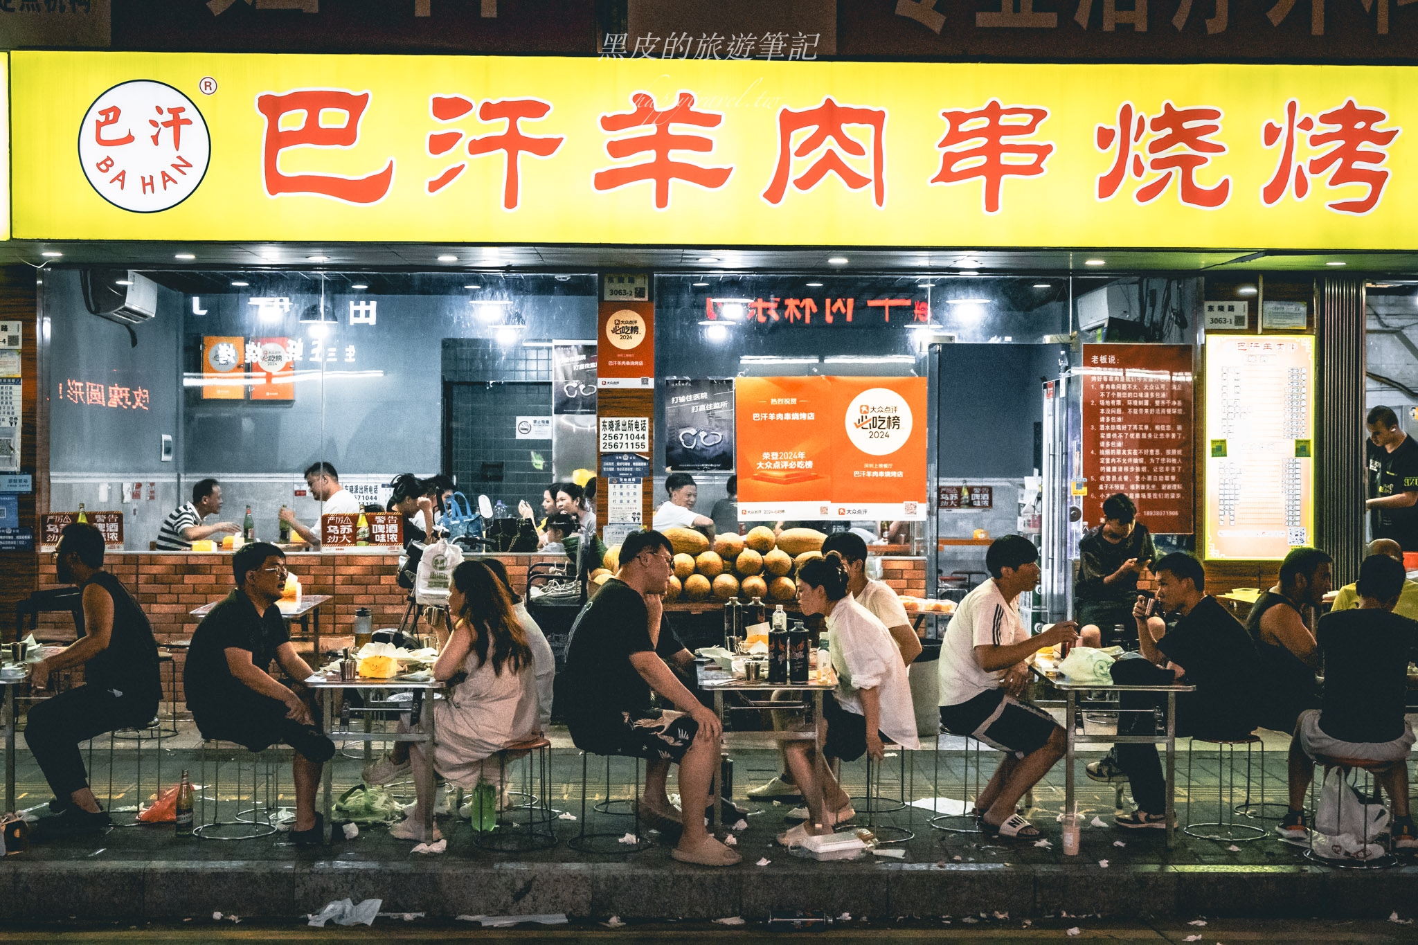
<instances>
[{"instance_id":1,"label":"red character \u4e32 between \u8089 and \u70e7 on the yellow sign","mask_svg":"<svg viewBox=\"0 0 1418 945\"><path fill-rule=\"evenodd\" d=\"M1000 190L1005 177L1038 177L1054 153L1054 142L1027 143L1012 140L1029 137L1049 116L1046 108L1000 105L990 99L974 111L946 109L946 135L936 147L940 171L933 184L960 184L967 180L984 181L983 204L987 214L1000 213ZM959 146L964 147L959 147Z\"/></svg>"}]
</instances>

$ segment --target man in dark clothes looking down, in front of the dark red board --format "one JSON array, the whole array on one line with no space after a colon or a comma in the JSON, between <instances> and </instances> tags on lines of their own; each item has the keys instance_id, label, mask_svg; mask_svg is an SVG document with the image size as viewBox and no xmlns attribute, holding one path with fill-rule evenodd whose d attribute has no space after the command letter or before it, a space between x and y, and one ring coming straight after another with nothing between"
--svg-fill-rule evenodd
<instances>
[{"instance_id":1,"label":"man in dark clothes looking down, in front of the dark red board","mask_svg":"<svg viewBox=\"0 0 1418 945\"><path fill-rule=\"evenodd\" d=\"M1078 555L1073 616L1079 625L1079 645L1136 649L1137 575L1157 557L1157 550L1147 526L1137 521L1132 497L1119 492L1103 500L1103 524L1083 536Z\"/></svg>"}]
</instances>

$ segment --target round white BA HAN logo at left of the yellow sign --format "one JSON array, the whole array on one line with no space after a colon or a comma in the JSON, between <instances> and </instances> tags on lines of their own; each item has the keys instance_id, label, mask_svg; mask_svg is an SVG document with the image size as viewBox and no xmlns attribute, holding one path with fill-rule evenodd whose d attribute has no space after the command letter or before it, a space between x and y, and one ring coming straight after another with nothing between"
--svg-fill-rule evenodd
<instances>
[{"instance_id":1,"label":"round white BA HAN logo at left of the yellow sign","mask_svg":"<svg viewBox=\"0 0 1418 945\"><path fill-rule=\"evenodd\" d=\"M163 82L121 82L89 105L79 126L79 164L98 196L152 214L201 184L211 135L193 101Z\"/></svg>"}]
</instances>

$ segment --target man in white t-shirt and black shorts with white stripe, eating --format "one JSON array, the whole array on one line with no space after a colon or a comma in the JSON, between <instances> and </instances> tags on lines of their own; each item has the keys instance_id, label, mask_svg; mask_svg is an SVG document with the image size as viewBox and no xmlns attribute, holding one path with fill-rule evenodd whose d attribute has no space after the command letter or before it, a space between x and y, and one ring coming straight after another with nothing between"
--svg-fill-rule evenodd
<instances>
[{"instance_id":1,"label":"man in white t-shirt and black shorts with white stripe, eating","mask_svg":"<svg viewBox=\"0 0 1418 945\"><path fill-rule=\"evenodd\" d=\"M984 558L991 579L960 602L940 645L940 724L1004 752L976 798L980 826L993 836L1038 839L1015 805L1066 749L1064 728L1044 710L1020 701L1035 650L1078 640L1072 622L1029 636L1018 596L1039 584L1039 551L1022 536L997 538Z\"/></svg>"}]
</instances>

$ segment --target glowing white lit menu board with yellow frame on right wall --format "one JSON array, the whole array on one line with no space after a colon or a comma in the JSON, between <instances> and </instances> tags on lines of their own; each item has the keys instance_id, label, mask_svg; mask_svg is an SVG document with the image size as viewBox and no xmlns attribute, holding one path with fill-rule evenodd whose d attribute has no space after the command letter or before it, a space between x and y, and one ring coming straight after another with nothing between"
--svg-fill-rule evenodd
<instances>
[{"instance_id":1,"label":"glowing white lit menu board with yellow frame on right wall","mask_svg":"<svg viewBox=\"0 0 1418 945\"><path fill-rule=\"evenodd\" d=\"M1207 339L1205 557L1276 561L1314 540L1314 339Z\"/></svg>"}]
</instances>

